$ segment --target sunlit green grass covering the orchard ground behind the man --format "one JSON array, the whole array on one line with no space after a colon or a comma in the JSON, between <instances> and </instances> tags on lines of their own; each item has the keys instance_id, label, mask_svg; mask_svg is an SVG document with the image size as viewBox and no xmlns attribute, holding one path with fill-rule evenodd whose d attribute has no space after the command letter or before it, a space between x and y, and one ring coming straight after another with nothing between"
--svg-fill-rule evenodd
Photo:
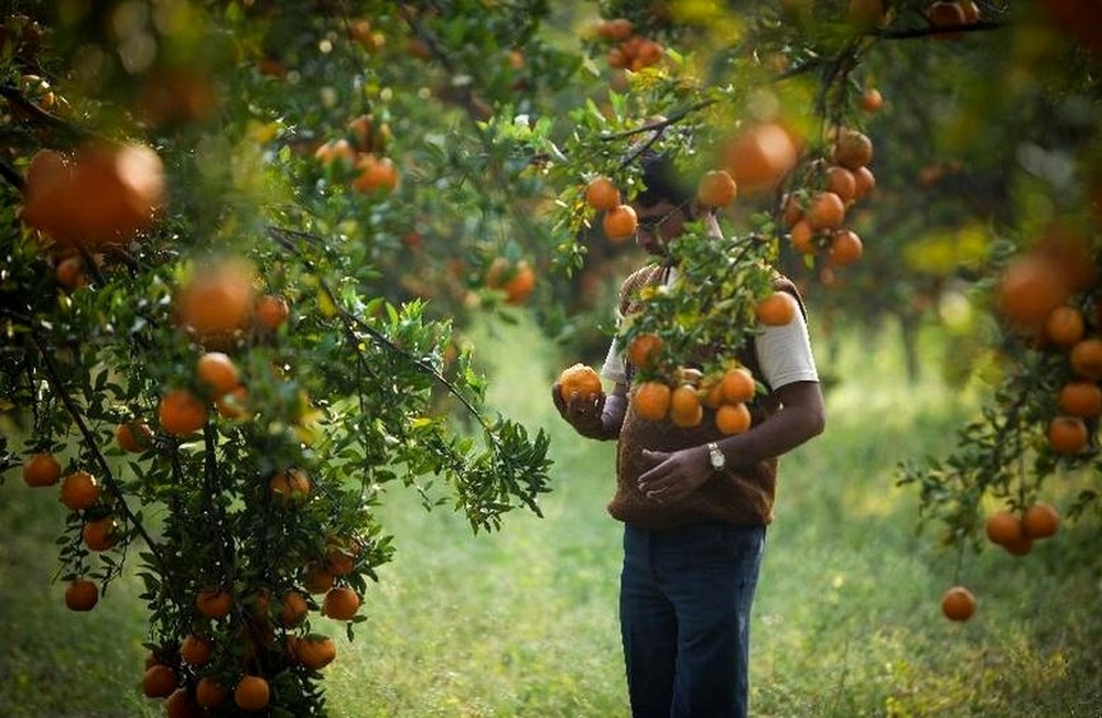
<instances>
[{"instance_id":1,"label":"sunlit green grass covering the orchard ground behind the man","mask_svg":"<svg viewBox=\"0 0 1102 718\"><path fill-rule=\"evenodd\" d=\"M530 329L493 341L485 356L525 358L489 365L493 403L552 436L544 518L517 512L501 532L473 535L446 508L426 513L393 493L382 514L398 553L366 597L368 620L353 642L343 625L315 620L338 638L325 670L334 717L627 715L619 525L604 511L614 447L579 439L559 420L547 389L559 367ZM828 394L828 431L782 461L755 603L753 715L1102 716L1098 522L1069 526L1024 558L991 550L962 558L939 550L936 527L916 534L917 500L895 487L896 465L949 452L975 398L932 377L908 384L896 347L888 333L820 356L840 381ZM64 509L8 479L0 716L161 715L138 693L136 581L114 585L91 613L66 611L51 584ZM957 581L979 596L963 624L939 609Z\"/></svg>"}]
</instances>

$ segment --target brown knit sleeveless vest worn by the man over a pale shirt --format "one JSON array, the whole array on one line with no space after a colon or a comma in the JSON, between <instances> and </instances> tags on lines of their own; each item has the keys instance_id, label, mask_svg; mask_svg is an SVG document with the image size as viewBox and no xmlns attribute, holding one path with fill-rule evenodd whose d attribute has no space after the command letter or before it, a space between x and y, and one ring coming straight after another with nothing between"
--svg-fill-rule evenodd
<instances>
[{"instance_id":1,"label":"brown knit sleeveless vest worn by the man over a pale shirt","mask_svg":"<svg viewBox=\"0 0 1102 718\"><path fill-rule=\"evenodd\" d=\"M648 264L624 281L619 294L620 312L624 316L641 308L637 300L638 291L644 286L662 282L665 272L666 268L660 264ZM803 303L791 281L777 274L774 286L792 294L803 311ZM754 372L755 378L760 380L753 339L746 346L735 348L733 351L738 360ZM630 378L634 373L633 368L627 369ZM777 406L777 399L771 392L758 396L752 405L754 424L773 415ZM691 497L677 503L659 504L639 491L637 480L650 468L642 458L642 449L676 452L721 438L723 435L715 427L712 410L704 410L704 420L699 425L680 428L669 420L640 418L629 402L616 454L616 494L608 503L608 513L625 523L651 530L667 530L706 521L737 525L770 523L777 490L776 458L753 466L735 466L736 459L722 472L709 479Z\"/></svg>"}]
</instances>

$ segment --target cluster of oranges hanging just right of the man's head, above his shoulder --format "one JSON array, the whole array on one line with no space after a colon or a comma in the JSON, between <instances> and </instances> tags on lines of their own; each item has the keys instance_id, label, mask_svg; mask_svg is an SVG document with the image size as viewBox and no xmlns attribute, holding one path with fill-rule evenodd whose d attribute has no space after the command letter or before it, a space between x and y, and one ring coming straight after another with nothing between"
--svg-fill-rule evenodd
<instances>
[{"instance_id":1,"label":"cluster of oranges hanging just right of the man's head, above his shoulder","mask_svg":"<svg viewBox=\"0 0 1102 718\"><path fill-rule=\"evenodd\" d=\"M850 207L872 193L876 178L868 168L873 142L858 130L838 131L829 162L815 165L820 188L803 202L789 195L782 208L792 248L801 254L825 249L831 265L861 259L861 238L845 226Z\"/></svg>"}]
</instances>

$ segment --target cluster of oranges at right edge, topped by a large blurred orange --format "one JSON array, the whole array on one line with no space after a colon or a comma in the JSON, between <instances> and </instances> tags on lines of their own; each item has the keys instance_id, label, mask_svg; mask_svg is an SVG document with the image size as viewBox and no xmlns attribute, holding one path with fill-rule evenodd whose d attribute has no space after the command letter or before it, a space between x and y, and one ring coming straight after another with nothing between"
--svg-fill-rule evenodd
<instances>
[{"instance_id":1,"label":"cluster of oranges at right edge, topped by a large blurred orange","mask_svg":"<svg viewBox=\"0 0 1102 718\"><path fill-rule=\"evenodd\" d=\"M1057 454L1073 455L1090 442L1090 423L1102 415L1102 297L1088 242L1054 228L1015 258L1000 280L996 303L1011 330L1066 360L1066 381L1046 429ZM1093 316L1089 314L1093 307Z\"/></svg>"}]
</instances>

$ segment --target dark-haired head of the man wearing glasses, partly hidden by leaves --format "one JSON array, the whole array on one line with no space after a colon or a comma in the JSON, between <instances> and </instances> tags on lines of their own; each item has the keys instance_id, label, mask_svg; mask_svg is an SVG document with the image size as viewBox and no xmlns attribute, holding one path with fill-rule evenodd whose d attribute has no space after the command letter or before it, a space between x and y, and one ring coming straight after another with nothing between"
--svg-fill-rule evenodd
<instances>
[{"instance_id":1,"label":"dark-haired head of the man wearing glasses, partly hidden by leaves","mask_svg":"<svg viewBox=\"0 0 1102 718\"><path fill-rule=\"evenodd\" d=\"M666 254L666 243L684 230L685 222L699 218L692 185L669 156L642 155L644 189L631 203L639 219L636 242L649 254Z\"/></svg>"}]
</instances>

